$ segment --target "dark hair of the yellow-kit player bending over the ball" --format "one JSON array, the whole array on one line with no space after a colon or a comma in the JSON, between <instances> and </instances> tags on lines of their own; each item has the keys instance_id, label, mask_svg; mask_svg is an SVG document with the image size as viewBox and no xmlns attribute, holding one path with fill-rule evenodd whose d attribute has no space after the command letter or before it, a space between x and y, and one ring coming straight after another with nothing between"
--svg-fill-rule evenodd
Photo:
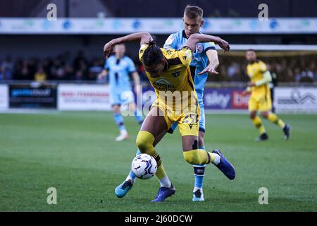
<instances>
[{"instance_id":1,"label":"dark hair of the yellow-kit player bending over the ball","mask_svg":"<svg viewBox=\"0 0 317 226\"><path fill-rule=\"evenodd\" d=\"M143 64L149 66L161 63L161 60L163 59L163 52L160 47L155 44L154 40L149 40L149 43L146 44L149 46L144 50L144 54L142 56Z\"/></svg>"}]
</instances>

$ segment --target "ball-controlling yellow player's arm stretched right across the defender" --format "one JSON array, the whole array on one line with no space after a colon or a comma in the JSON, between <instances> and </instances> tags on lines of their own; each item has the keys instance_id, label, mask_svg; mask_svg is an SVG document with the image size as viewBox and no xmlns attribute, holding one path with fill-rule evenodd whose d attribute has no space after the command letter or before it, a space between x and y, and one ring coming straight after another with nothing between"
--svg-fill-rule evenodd
<instances>
[{"instance_id":1,"label":"ball-controlling yellow player's arm stretched right across the defender","mask_svg":"<svg viewBox=\"0 0 317 226\"><path fill-rule=\"evenodd\" d=\"M215 42L219 45L224 52L229 51L230 45L225 40L222 40L220 37L213 36L213 35L204 35L204 34L192 34L190 35L189 39L185 43L186 47L192 49L194 51L196 49L196 44L199 42Z\"/></svg>"}]
</instances>

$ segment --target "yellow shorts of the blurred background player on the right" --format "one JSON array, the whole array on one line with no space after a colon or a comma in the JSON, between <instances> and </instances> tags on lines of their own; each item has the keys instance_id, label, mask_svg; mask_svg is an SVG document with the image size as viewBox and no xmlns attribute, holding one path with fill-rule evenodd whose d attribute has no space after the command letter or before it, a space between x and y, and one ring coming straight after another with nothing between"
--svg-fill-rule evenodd
<instances>
[{"instance_id":1,"label":"yellow shorts of the blurred background player on the right","mask_svg":"<svg viewBox=\"0 0 317 226\"><path fill-rule=\"evenodd\" d=\"M266 95L251 95L249 99L249 112L267 112L272 109L271 93Z\"/></svg>"}]
</instances>

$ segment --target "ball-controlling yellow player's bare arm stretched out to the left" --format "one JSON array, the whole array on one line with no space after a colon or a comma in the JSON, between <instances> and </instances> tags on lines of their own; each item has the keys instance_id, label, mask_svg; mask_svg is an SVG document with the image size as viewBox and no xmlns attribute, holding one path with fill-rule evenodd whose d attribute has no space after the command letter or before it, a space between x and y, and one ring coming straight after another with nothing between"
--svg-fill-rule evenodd
<instances>
[{"instance_id":1,"label":"ball-controlling yellow player's bare arm stretched out to the left","mask_svg":"<svg viewBox=\"0 0 317 226\"><path fill-rule=\"evenodd\" d=\"M149 42L149 40L153 40L153 38L148 32L137 32L130 35L125 35L123 37L115 38L104 45L104 57L107 58L111 54L111 52L113 52L113 47L116 44L139 41L140 45L142 45L145 42Z\"/></svg>"}]
</instances>

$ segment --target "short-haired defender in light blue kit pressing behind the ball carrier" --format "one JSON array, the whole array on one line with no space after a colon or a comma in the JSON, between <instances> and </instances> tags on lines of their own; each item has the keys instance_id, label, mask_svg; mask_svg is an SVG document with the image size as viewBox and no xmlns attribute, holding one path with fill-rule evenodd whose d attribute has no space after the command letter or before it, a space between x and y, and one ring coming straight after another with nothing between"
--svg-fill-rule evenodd
<instances>
[{"instance_id":1,"label":"short-haired defender in light blue kit pressing behind the ball carrier","mask_svg":"<svg viewBox=\"0 0 317 226\"><path fill-rule=\"evenodd\" d=\"M203 20L203 10L198 6L186 6L184 12L184 30L174 33L168 37L164 44L164 49L181 49L190 35L194 33L199 33L200 28L204 24ZM204 114L204 85L208 78L208 73L215 73L216 68L219 65L218 53L216 52L216 47L213 42L198 43L196 46L196 51L194 52L194 57L192 63L190 64L191 74L194 76L194 85L199 99L199 107L201 109L201 115L199 119L199 148L204 149L204 133L205 133L205 114ZM173 126L168 131L173 133L177 126ZM161 137L163 138L163 136ZM160 140L160 139L158 139ZM157 141L159 142L159 141ZM157 143L156 142L156 143ZM137 155L139 155L139 150ZM204 201L203 194L203 181L204 172L206 165L194 165L194 190L192 201ZM116 188L116 195L119 198L125 196L128 191L132 188L135 182L135 175L131 171L125 182L120 184ZM160 182L161 183L161 182Z\"/></svg>"}]
</instances>

